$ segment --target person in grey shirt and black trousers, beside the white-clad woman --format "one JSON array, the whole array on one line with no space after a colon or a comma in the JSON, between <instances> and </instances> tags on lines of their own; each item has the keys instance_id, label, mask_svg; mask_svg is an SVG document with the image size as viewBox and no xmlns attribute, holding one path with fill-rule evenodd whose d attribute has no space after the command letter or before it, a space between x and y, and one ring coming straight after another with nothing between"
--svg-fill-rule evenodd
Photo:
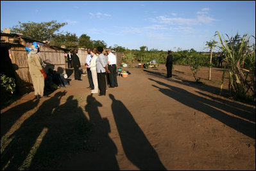
<instances>
[{"instance_id":1,"label":"person in grey shirt and black trousers, beside the white-clad woman","mask_svg":"<svg viewBox=\"0 0 256 171\"><path fill-rule=\"evenodd\" d=\"M97 47L97 51L99 54L96 60L99 95L106 95L106 72L110 73L110 71L108 70L108 63L105 59L105 55L102 53L103 47Z\"/></svg>"}]
</instances>

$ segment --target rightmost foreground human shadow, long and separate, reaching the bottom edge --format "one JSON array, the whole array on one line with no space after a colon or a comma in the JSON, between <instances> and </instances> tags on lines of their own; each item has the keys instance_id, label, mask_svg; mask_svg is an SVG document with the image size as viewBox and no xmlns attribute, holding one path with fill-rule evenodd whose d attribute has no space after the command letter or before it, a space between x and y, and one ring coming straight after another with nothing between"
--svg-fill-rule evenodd
<instances>
[{"instance_id":1,"label":"rightmost foreground human shadow, long and separate, reaching the bottom edge","mask_svg":"<svg viewBox=\"0 0 256 171\"><path fill-rule=\"evenodd\" d=\"M123 102L116 100L114 95L109 94L109 97L112 100L111 108L126 157L139 170L166 170L132 113Z\"/></svg>"}]
</instances>

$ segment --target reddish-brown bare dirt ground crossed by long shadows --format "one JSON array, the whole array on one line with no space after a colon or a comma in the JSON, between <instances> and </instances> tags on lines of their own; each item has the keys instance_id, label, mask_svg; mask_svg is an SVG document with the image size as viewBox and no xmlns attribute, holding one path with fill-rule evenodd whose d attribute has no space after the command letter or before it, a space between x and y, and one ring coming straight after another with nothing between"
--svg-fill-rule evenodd
<instances>
[{"instance_id":1,"label":"reddish-brown bare dirt ground crossed by long shadows","mask_svg":"<svg viewBox=\"0 0 256 171\"><path fill-rule=\"evenodd\" d=\"M201 68L203 84L194 83L187 66L175 65L169 79L164 65L123 69L132 74L117 77L119 86L105 97L90 94L81 76L51 97L36 101L31 92L1 110L1 146L4 137L14 138L3 153L1 147L1 169L30 161L30 170L255 170L255 106L224 97L226 82L219 95L221 69L213 68L208 81L208 68ZM83 129L87 121L91 131ZM22 140L26 133L31 139ZM19 149L12 142L29 145ZM53 151L58 143L62 149ZM81 144L85 148L76 149ZM47 149L59 156L54 165L38 167Z\"/></svg>"}]
</instances>

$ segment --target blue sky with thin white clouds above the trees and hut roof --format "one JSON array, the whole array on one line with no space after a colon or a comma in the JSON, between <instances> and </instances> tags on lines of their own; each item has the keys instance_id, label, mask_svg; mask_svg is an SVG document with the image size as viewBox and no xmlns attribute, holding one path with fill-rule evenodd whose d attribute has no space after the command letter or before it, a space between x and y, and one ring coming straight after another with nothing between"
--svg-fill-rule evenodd
<instances>
[{"instance_id":1,"label":"blue sky with thin white clouds above the trees and hut roof","mask_svg":"<svg viewBox=\"0 0 256 171\"><path fill-rule=\"evenodd\" d=\"M206 51L216 31L255 36L255 1L1 1L1 30L51 20L112 47Z\"/></svg>"}]
</instances>

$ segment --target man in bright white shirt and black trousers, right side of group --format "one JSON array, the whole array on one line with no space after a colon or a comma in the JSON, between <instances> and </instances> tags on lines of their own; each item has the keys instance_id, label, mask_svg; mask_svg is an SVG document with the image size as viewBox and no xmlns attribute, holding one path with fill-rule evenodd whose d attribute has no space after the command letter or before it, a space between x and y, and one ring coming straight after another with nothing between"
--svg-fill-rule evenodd
<instances>
[{"instance_id":1,"label":"man in bright white shirt and black trousers, right side of group","mask_svg":"<svg viewBox=\"0 0 256 171\"><path fill-rule=\"evenodd\" d=\"M107 49L107 54L108 54L108 70L110 70L110 73L109 73L110 86L109 87L114 88L115 86L118 86L116 57L111 52L111 49Z\"/></svg>"}]
</instances>

